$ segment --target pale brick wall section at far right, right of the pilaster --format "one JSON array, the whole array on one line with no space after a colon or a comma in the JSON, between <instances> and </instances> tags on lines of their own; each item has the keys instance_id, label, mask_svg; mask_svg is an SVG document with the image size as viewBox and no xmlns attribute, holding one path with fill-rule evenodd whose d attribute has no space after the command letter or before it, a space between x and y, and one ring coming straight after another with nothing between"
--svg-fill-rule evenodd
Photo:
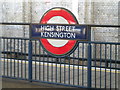
<instances>
[{"instance_id":1,"label":"pale brick wall section at far right, right of the pilaster","mask_svg":"<svg viewBox=\"0 0 120 90\"><path fill-rule=\"evenodd\" d=\"M100 25L118 25L118 2L94 2L93 23ZM97 28L95 40L118 42L118 28Z\"/></svg>"}]
</instances>

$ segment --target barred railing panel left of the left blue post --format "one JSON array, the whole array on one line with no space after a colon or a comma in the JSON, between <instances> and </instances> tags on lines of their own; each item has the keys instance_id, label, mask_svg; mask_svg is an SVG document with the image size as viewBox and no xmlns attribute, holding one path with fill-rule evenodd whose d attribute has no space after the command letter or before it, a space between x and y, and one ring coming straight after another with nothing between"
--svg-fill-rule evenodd
<instances>
[{"instance_id":1,"label":"barred railing panel left of the left blue post","mask_svg":"<svg viewBox=\"0 0 120 90\"><path fill-rule=\"evenodd\" d=\"M8 77L28 79L28 39L2 39L3 75Z\"/></svg>"}]
</instances>

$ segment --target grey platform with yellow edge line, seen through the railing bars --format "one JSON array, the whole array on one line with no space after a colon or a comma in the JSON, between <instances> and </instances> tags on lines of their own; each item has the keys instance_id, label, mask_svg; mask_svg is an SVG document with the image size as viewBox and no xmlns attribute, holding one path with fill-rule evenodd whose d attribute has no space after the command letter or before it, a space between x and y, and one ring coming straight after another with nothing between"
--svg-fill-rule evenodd
<instances>
[{"instance_id":1,"label":"grey platform with yellow edge line, seen through the railing bars","mask_svg":"<svg viewBox=\"0 0 120 90\"><path fill-rule=\"evenodd\" d=\"M3 61L3 75L16 78L28 79L28 62L18 60ZM36 81L79 85L87 87L87 67L51 64L45 62L32 62L32 79ZM92 68L92 87L93 88L118 88L119 71L110 69ZM22 82L22 81L20 81ZM20 86L31 87L31 83L26 85L22 82ZM19 84L15 83L17 87ZM32 83L34 84L34 83ZM3 86L12 86L9 81ZM15 86L13 84L13 86ZM35 85L32 87L39 87ZM42 85L42 87L51 87ZM54 87L54 86L53 86Z\"/></svg>"}]
</instances>

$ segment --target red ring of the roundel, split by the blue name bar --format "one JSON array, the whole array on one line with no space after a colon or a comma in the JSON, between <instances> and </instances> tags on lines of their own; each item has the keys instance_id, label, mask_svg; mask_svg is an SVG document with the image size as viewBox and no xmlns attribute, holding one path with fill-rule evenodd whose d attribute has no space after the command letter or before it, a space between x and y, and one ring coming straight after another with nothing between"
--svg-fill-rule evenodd
<instances>
[{"instance_id":1,"label":"red ring of the roundel, split by the blue name bar","mask_svg":"<svg viewBox=\"0 0 120 90\"><path fill-rule=\"evenodd\" d=\"M53 8L46 12L40 23L41 24L46 24L52 17L55 16L61 16L67 20L69 24L78 24L77 19L74 17L74 15L68 11L67 9L64 8ZM50 53L54 55L64 55L70 52L74 46L77 43L77 40L69 40L68 43L62 47L54 47L52 46L47 39L40 39L43 47Z\"/></svg>"}]
</instances>

